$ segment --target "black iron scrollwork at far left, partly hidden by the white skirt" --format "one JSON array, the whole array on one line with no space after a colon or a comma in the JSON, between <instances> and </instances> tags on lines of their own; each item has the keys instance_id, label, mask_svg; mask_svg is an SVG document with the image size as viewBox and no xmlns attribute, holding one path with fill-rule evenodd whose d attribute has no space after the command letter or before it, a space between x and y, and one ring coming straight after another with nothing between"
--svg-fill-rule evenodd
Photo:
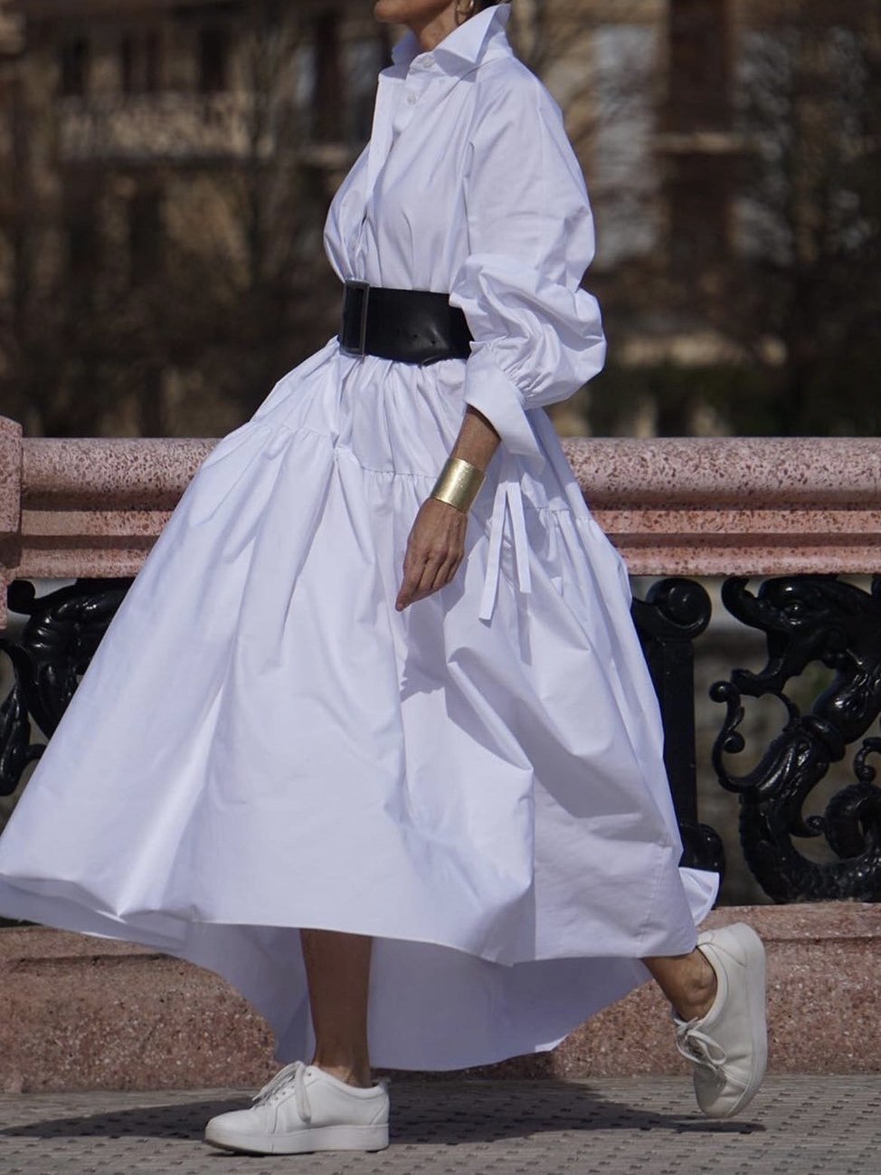
<instances>
[{"instance_id":1,"label":"black iron scrollwork at far left, partly hidden by the white skirt","mask_svg":"<svg viewBox=\"0 0 881 1175\"><path fill-rule=\"evenodd\" d=\"M9 609L28 619L19 643L0 637L14 672L0 705L0 794L11 795L42 754L43 744L31 740L31 719L52 736L130 583L78 579L39 599L27 579L9 585Z\"/></svg>"}]
</instances>

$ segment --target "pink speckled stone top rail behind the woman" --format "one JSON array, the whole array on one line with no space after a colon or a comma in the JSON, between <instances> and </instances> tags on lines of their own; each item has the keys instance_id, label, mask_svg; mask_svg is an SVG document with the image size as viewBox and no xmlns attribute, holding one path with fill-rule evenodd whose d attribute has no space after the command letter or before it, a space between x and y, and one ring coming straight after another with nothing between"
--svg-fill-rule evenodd
<instances>
[{"instance_id":1,"label":"pink speckled stone top rail behind the woman","mask_svg":"<svg viewBox=\"0 0 881 1175\"><path fill-rule=\"evenodd\" d=\"M0 417L0 578L135 575L215 439L29 438ZM570 439L634 575L881 570L881 441Z\"/></svg>"}]
</instances>

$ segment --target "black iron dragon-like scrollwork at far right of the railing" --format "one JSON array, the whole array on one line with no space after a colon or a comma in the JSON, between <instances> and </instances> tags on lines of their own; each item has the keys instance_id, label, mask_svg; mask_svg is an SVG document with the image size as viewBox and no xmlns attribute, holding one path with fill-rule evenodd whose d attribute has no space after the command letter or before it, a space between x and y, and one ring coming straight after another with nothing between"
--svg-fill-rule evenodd
<instances>
[{"instance_id":1,"label":"black iron dragon-like scrollwork at far right of the railing","mask_svg":"<svg viewBox=\"0 0 881 1175\"><path fill-rule=\"evenodd\" d=\"M753 874L775 901L852 898L881 900L881 788L869 757L881 738L866 737L881 713L881 577L866 592L835 576L766 579L756 595L746 578L726 580L722 602L741 623L766 634L767 664L759 673L735 670L711 696L726 718L713 747L724 787L740 795L740 840ZM811 663L834 670L832 684L802 713L787 684ZM758 765L733 774L726 757L745 747L739 731L742 698L778 698L788 714ZM805 804L829 765L861 740L856 783L835 794L822 815ZM815 862L799 838L825 837L839 858Z\"/></svg>"}]
</instances>

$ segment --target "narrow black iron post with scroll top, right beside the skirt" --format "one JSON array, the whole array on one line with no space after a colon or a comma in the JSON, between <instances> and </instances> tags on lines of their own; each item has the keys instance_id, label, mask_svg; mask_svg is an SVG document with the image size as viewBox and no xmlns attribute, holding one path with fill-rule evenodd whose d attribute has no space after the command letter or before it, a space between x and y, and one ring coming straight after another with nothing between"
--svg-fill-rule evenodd
<instances>
[{"instance_id":1,"label":"narrow black iron post with scroll top, right beside the skirt","mask_svg":"<svg viewBox=\"0 0 881 1175\"><path fill-rule=\"evenodd\" d=\"M698 820L694 744L693 643L709 623L712 605L693 579L659 579L645 600L634 599L633 620L664 719L664 761L682 838L681 864L725 872L719 834Z\"/></svg>"}]
</instances>

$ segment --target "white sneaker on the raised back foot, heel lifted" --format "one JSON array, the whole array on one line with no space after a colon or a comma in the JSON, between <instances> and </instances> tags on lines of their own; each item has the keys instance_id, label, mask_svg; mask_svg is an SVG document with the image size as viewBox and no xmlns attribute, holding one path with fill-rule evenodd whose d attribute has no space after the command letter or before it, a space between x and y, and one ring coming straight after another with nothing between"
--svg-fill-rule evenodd
<instances>
[{"instance_id":1,"label":"white sneaker on the raised back foot, heel lifted","mask_svg":"<svg viewBox=\"0 0 881 1175\"><path fill-rule=\"evenodd\" d=\"M698 936L719 983L697 1020L675 1014L677 1048L694 1065L694 1093L709 1117L732 1117L752 1101L768 1059L765 947L745 922Z\"/></svg>"}]
</instances>

